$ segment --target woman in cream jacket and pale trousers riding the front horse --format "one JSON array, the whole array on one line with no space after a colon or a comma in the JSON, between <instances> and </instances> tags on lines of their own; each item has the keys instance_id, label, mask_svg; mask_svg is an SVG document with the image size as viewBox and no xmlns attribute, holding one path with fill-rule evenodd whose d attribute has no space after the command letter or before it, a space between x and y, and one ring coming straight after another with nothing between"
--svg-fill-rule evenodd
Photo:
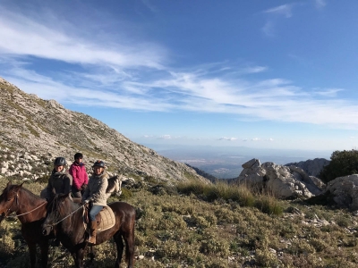
<instances>
[{"instance_id":1,"label":"woman in cream jacket and pale trousers riding the front horse","mask_svg":"<svg viewBox=\"0 0 358 268\"><path fill-rule=\"evenodd\" d=\"M90 239L89 244L96 244L97 222L96 215L102 210L104 206L107 206L106 189L108 186L107 179L108 173L105 171L106 165L103 161L96 161L93 166L93 174L90 176L89 185L86 188L82 202L89 203L90 206Z\"/></svg>"}]
</instances>

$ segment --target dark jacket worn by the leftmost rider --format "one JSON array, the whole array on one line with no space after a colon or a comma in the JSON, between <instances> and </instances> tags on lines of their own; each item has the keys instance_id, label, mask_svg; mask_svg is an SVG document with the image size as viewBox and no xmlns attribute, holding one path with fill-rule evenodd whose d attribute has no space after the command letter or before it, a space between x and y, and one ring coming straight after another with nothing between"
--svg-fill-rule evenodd
<instances>
[{"instance_id":1,"label":"dark jacket worn by the leftmost rider","mask_svg":"<svg viewBox=\"0 0 358 268\"><path fill-rule=\"evenodd\" d=\"M62 172L52 171L47 183L46 198L52 197L52 189L56 194L68 194L71 192L72 176L64 169Z\"/></svg>"}]
</instances>

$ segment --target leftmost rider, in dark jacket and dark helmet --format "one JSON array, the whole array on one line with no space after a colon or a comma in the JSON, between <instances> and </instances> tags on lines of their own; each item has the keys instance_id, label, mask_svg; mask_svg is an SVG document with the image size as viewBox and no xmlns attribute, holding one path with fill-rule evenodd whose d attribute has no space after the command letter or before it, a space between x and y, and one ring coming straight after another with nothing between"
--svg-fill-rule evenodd
<instances>
[{"instance_id":1,"label":"leftmost rider, in dark jacket and dark helmet","mask_svg":"<svg viewBox=\"0 0 358 268\"><path fill-rule=\"evenodd\" d=\"M46 199L53 196L53 189L56 194L68 194L71 192L72 176L66 172L66 160L64 157L56 157L54 161L54 170L51 172L47 183Z\"/></svg>"}]
</instances>

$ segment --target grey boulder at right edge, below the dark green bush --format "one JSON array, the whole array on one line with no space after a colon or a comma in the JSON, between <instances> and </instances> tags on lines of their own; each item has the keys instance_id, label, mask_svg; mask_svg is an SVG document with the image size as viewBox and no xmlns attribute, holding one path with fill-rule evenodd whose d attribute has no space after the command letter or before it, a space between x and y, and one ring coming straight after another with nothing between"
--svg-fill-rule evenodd
<instances>
[{"instance_id":1,"label":"grey boulder at right edge, below the dark green bush","mask_svg":"<svg viewBox=\"0 0 358 268\"><path fill-rule=\"evenodd\" d=\"M340 207L358 210L358 174L338 177L328 181L322 195L331 195Z\"/></svg>"}]
</instances>

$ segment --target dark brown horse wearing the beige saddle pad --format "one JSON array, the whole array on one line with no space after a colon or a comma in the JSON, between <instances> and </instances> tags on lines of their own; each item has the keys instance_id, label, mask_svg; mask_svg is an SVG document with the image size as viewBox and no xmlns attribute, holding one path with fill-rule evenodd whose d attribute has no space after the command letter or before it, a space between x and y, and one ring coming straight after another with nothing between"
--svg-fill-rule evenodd
<instances>
[{"instance_id":1,"label":"dark brown horse wearing the beige saddle pad","mask_svg":"<svg viewBox=\"0 0 358 268\"><path fill-rule=\"evenodd\" d=\"M124 202L108 204L115 214L115 225L97 233L96 242L101 244L110 238L115 239L117 258L115 268L119 268L122 261L125 241L125 257L128 268L134 262L134 223L135 210L132 205ZM47 208L47 218L43 224L43 234L48 235L52 230L55 237L60 239L74 259L76 267L83 267L83 255L87 246L87 234L83 226L83 205L72 202L70 195L55 195ZM124 241L123 241L124 239Z\"/></svg>"}]
</instances>

